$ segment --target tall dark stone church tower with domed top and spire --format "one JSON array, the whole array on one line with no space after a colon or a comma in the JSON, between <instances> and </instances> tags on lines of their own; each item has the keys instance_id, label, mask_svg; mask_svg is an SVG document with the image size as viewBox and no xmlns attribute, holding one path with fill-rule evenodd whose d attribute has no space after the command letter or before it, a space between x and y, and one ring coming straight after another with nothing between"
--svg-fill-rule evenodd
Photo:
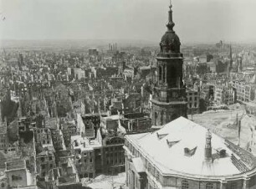
<instances>
[{"instance_id":1,"label":"tall dark stone church tower with domed top and spire","mask_svg":"<svg viewBox=\"0 0 256 189\"><path fill-rule=\"evenodd\" d=\"M157 54L157 84L152 95L152 125L165 125L180 116L187 117L186 86L182 82L183 54L181 42L173 31L172 4L167 31L161 38L161 52Z\"/></svg>"}]
</instances>

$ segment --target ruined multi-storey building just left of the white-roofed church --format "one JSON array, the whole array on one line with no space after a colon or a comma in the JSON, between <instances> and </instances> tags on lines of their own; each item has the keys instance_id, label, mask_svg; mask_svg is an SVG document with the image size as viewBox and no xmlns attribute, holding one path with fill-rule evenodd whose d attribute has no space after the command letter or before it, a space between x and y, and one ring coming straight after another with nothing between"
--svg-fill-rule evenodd
<instances>
[{"instance_id":1,"label":"ruined multi-storey building just left of the white-roofed church","mask_svg":"<svg viewBox=\"0 0 256 189\"><path fill-rule=\"evenodd\" d=\"M124 139L107 136L102 140L98 131L97 139L88 140L79 135L71 137L75 166L79 177L90 177L105 173L125 171Z\"/></svg>"}]
</instances>

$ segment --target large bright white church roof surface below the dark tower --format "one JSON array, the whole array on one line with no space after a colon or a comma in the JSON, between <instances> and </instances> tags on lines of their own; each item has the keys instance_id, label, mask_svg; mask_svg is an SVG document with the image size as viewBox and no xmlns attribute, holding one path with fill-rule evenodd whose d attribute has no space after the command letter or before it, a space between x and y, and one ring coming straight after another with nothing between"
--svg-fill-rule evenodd
<instances>
[{"instance_id":1,"label":"large bright white church roof surface below the dark tower","mask_svg":"<svg viewBox=\"0 0 256 189\"><path fill-rule=\"evenodd\" d=\"M225 145L223 138L213 133L212 154L223 149L226 150L226 156L218 157L214 161L205 161L206 133L206 128L180 117L154 133L127 135L126 137L141 146L142 151L146 151L153 164L160 167L161 171L166 174L183 172L202 176L227 176L241 173L231 160L233 151ZM170 147L166 140L175 141L175 144ZM195 147L197 149L194 155L185 156L184 148L192 150Z\"/></svg>"}]
</instances>

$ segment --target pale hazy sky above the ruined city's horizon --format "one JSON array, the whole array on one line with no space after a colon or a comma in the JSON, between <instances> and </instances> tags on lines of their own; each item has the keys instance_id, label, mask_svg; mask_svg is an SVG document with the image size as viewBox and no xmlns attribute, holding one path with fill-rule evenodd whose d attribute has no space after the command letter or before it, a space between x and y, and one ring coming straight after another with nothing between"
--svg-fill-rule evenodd
<instances>
[{"instance_id":1,"label":"pale hazy sky above the ruined city's horizon","mask_svg":"<svg viewBox=\"0 0 256 189\"><path fill-rule=\"evenodd\" d=\"M255 0L173 0L183 43L256 41ZM168 0L0 0L2 39L142 39L159 42ZM4 19L5 17L5 19Z\"/></svg>"}]
</instances>

